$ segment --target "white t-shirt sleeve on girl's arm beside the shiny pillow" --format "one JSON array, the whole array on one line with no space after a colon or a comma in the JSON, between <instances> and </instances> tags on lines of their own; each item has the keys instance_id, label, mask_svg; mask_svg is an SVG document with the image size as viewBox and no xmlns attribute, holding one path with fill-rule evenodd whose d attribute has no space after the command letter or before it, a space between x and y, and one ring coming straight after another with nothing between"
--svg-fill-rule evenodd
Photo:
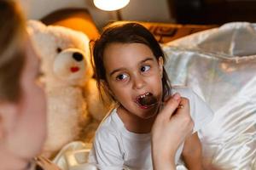
<instances>
[{"instance_id":1,"label":"white t-shirt sleeve on girl's arm beside the shiny pillow","mask_svg":"<svg viewBox=\"0 0 256 170\"><path fill-rule=\"evenodd\" d=\"M212 121L213 111L207 105L207 103L201 99L195 92L189 89L190 99L189 99L189 106L190 106L190 114L195 122L195 127L193 133L200 130L202 127L207 126L209 122Z\"/></svg>"}]
</instances>

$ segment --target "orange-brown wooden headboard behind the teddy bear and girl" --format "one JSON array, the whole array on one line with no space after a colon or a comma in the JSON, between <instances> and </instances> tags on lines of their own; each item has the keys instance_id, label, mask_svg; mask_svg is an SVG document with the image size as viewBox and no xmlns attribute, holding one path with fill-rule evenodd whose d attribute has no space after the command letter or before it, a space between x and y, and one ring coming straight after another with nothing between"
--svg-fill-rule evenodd
<instances>
[{"instance_id":1,"label":"orange-brown wooden headboard behind the teddy bear and girl","mask_svg":"<svg viewBox=\"0 0 256 170\"><path fill-rule=\"evenodd\" d=\"M41 20L45 25L66 26L83 31L90 40L99 37L99 31L86 8L63 8L48 14ZM127 20L128 21L128 20ZM116 21L123 23L127 21ZM129 22L129 21L128 21ZM179 37L188 36L197 31L204 31L216 26L177 25L172 23L139 22L154 35L160 43L170 42Z\"/></svg>"}]
</instances>

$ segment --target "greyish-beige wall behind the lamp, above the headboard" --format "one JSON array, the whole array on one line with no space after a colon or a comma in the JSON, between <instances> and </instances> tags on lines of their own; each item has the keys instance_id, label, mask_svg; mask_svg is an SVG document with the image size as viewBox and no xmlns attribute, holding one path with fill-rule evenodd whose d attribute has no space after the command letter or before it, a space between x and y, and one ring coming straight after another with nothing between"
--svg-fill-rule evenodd
<instances>
[{"instance_id":1,"label":"greyish-beige wall behind the lamp, above the headboard","mask_svg":"<svg viewBox=\"0 0 256 170\"><path fill-rule=\"evenodd\" d=\"M20 0L28 19L39 20L46 14L67 7L88 8L96 26L101 28L108 20L116 20L116 15L96 8L92 0ZM120 10L124 20L173 22L167 0L131 0Z\"/></svg>"}]
</instances>

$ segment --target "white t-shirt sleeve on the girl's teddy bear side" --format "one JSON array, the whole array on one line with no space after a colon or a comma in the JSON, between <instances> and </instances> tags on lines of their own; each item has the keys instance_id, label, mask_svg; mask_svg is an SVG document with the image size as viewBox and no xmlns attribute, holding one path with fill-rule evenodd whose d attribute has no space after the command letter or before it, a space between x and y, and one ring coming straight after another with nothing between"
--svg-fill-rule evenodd
<instances>
[{"instance_id":1,"label":"white t-shirt sleeve on the girl's teddy bear side","mask_svg":"<svg viewBox=\"0 0 256 170\"><path fill-rule=\"evenodd\" d=\"M108 129L97 130L93 147L90 150L89 162L103 170L123 169L124 159L114 132L109 132Z\"/></svg>"}]
</instances>

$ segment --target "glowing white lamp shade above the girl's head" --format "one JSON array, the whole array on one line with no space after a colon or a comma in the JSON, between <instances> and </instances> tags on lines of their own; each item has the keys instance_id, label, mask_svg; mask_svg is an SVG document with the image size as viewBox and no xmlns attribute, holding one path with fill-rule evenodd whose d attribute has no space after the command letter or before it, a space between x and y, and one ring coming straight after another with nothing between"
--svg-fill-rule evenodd
<instances>
[{"instance_id":1,"label":"glowing white lamp shade above the girl's head","mask_svg":"<svg viewBox=\"0 0 256 170\"><path fill-rule=\"evenodd\" d=\"M118 10L124 8L130 0L93 0L96 8L100 8L106 11Z\"/></svg>"}]
</instances>

